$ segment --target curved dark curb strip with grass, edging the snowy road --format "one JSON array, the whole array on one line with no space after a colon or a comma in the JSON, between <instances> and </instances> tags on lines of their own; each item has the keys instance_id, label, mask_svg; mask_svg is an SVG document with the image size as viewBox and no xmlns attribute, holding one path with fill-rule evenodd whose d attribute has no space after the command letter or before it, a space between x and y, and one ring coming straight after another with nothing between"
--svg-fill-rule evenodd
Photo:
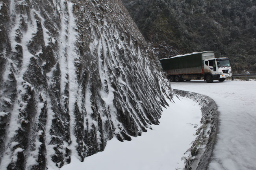
<instances>
[{"instance_id":1,"label":"curved dark curb strip with grass, edging the snowy road","mask_svg":"<svg viewBox=\"0 0 256 170\"><path fill-rule=\"evenodd\" d=\"M192 99L200 105L202 111L202 126L197 129L197 138L191 148L187 150L185 170L207 170L213 155L218 131L218 110L213 99L206 95L189 91L173 89L174 93L181 97Z\"/></svg>"}]
</instances>

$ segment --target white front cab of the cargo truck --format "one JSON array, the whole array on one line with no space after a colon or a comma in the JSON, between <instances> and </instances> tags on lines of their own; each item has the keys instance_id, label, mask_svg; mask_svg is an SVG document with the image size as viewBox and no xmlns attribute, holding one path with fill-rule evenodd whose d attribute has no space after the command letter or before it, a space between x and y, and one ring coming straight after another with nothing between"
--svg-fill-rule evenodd
<instances>
[{"instance_id":1,"label":"white front cab of the cargo truck","mask_svg":"<svg viewBox=\"0 0 256 170\"><path fill-rule=\"evenodd\" d=\"M227 77L232 77L232 70L228 58L205 59L203 65L207 82L212 82L213 80L224 81Z\"/></svg>"}]
</instances>

